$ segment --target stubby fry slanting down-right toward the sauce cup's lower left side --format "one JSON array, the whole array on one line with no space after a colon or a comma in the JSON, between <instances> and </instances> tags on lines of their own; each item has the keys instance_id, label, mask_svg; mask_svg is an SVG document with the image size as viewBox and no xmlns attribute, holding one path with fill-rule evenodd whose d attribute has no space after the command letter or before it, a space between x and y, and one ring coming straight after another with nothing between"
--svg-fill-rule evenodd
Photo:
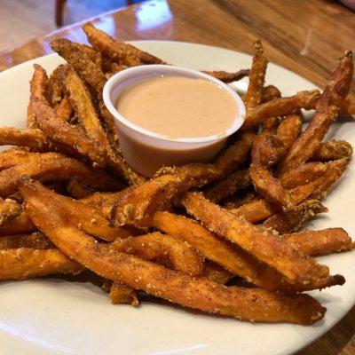
<instances>
[{"instance_id":1,"label":"stubby fry slanting down-right toward the sauce cup's lower left side","mask_svg":"<svg viewBox=\"0 0 355 355\"><path fill-rule=\"evenodd\" d=\"M51 139L71 146L78 154L88 157L95 166L106 165L102 146L91 141L75 126L59 120L51 106L44 101L35 101L32 104L32 111L41 130Z\"/></svg>"}]
</instances>

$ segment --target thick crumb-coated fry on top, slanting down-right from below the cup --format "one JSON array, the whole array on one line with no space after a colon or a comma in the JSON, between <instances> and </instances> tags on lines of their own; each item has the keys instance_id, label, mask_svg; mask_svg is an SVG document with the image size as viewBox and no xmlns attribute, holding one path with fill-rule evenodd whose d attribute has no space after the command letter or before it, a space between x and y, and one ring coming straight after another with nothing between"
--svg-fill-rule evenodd
<instances>
[{"instance_id":1,"label":"thick crumb-coated fry on top, slanting down-right from below the cup","mask_svg":"<svg viewBox=\"0 0 355 355\"><path fill-rule=\"evenodd\" d=\"M288 280L305 285L327 278L327 266L319 265L312 258L298 253L273 233L251 225L209 202L201 193L185 193L182 203L187 212L211 232L238 244L260 261L274 267Z\"/></svg>"}]
</instances>

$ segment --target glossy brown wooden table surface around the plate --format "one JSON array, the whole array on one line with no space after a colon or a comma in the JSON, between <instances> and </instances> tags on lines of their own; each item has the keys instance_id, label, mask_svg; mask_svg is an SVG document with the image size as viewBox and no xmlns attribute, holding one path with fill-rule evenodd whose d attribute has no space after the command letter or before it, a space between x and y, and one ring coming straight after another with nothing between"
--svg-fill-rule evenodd
<instances>
[{"instance_id":1,"label":"glossy brown wooden table surface around the plate","mask_svg":"<svg viewBox=\"0 0 355 355\"><path fill-rule=\"evenodd\" d=\"M319 87L324 87L343 51L355 50L355 13L335 1L153 0L92 21L122 40L205 43L247 53L259 38L270 61ZM86 42L80 24L60 28L1 51L0 70L50 53L49 43L59 36ZM301 354L355 354L355 308Z\"/></svg>"}]
</instances>

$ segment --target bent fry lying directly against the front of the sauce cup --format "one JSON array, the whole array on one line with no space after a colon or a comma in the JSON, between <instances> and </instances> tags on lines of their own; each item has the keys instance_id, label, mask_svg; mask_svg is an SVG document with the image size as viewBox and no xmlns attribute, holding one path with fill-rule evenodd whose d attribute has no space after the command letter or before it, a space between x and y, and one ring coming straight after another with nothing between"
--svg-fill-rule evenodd
<instances>
[{"instance_id":1,"label":"bent fry lying directly against the front of the sauce cup","mask_svg":"<svg viewBox=\"0 0 355 355\"><path fill-rule=\"evenodd\" d=\"M206 185L236 169L248 155L253 134L246 133L214 163L190 163L177 168L162 168L155 177L139 185L114 206L115 225L144 225L156 210L166 209L177 193Z\"/></svg>"}]
</instances>

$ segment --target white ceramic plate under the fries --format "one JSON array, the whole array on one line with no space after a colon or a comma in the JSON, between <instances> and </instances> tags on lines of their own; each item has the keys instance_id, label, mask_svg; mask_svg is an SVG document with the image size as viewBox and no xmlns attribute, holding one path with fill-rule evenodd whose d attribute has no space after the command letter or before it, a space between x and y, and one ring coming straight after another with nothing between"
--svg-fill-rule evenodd
<instances>
[{"instance_id":1,"label":"white ceramic plate under the fries","mask_svg":"<svg viewBox=\"0 0 355 355\"><path fill-rule=\"evenodd\" d=\"M196 69L233 71L250 67L250 56L193 43L136 42L172 64ZM57 55L31 60L0 74L1 125L24 127L28 81L32 65L48 71ZM244 89L247 81L238 83ZM314 88L312 83L270 64L267 83L284 95ZM355 123L336 122L331 137L355 141ZM354 164L325 201L329 212L311 227L343 226L355 235ZM111 305L107 295L90 283L64 280L25 280L0 284L0 343L2 354L289 354L317 339L355 304L355 253L319 258L347 282L313 295L327 307L325 319L312 327L250 324L210 316L168 304L141 304L137 309Z\"/></svg>"}]
</instances>

